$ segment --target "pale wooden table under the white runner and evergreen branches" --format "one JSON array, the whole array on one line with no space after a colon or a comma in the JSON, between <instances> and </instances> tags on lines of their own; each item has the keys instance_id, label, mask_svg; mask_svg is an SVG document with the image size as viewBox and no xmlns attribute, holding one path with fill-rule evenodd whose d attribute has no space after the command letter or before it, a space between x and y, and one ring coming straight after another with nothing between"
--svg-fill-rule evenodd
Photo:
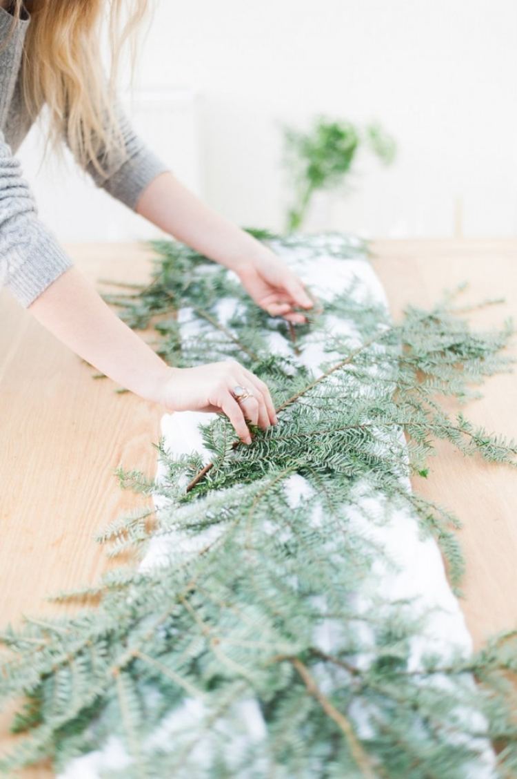
<instances>
[{"instance_id":1,"label":"pale wooden table under the white runner and evergreen branches","mask_svg":"<svg viewBox=\"0 0 517 779\"><path fill-rule=\"evenodd\" d=\"M150 255L139 245L68 246L93 281L140 281ZM466 301L504 296L505 306L477 312L480 325L517 320L517 240L374 241L373 264L393 315L408 301L431 305L445 287L466 280ZM114 392L92 370L19 308L0 295L0 624L59 608L47 594L94 583L107 569L93 534L141 505L121 492L117 466L155 472L160 411ZM473 421L517 439L517 373L489 379L484 398L466 410ZM414 488L463 520L467 570L462 601L479 646L498 629L517 626L517 473L466 460L438 446L428 479ZM7 714L0 718L0 749ZM5 738L4 738L5 744ZM22 774L20 774L21 776ZM48 768L23 772L43 779Z\"/></svg>"}]
</instances>

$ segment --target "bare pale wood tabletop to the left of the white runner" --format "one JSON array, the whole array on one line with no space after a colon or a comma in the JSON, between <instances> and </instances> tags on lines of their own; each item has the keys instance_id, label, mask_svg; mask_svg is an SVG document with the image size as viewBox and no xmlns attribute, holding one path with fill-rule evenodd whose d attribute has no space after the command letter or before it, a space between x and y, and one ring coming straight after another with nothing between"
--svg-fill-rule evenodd
<instances>
[{"instance_id":1,"label":"bare pale wood tabletop to the left of the white runner","mask_svg":"<svg viewBox=\"0 0 517 779\"><path fill-rule=\"evenodd\" d=\"M137 245L69 246L91 279L148 279ZM105 287L107 290L107 287ZM73 610L44 597L95 583L107 569L93 535L142 500L123 492L118 466L155 474L159 407L117 394L44 330L5 291L0 297L0 624L23 614ZM10 711L0 715L0 752ZM3 736L3 738L2 738ZM19 772L53 776L50 768Z\"/></svg>"}]
</instances>

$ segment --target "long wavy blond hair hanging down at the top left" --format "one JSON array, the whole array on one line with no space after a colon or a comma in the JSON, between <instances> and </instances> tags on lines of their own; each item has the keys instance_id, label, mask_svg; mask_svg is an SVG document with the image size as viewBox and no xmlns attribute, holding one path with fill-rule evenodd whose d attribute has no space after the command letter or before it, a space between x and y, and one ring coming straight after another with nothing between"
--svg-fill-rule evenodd
<instances>
[{"instance_id":1,"label":"long wavy blond hair hanging down at the top left","mask_svg":"<svg viewBox=\"0 0 517 779\"><path fill-rule=\"evenodd\" d=\"M45 151L65 138L79 163L91 162L100 174L105 172L100 157L109 160L114 150L124 154L114 110L118 66L128 42L132 83L136 33L150 5L150 0L12 0L12 30L19 16L30 13L23 51L23 99L33 120L47 106ZM107 74L100 51L104 25L110 44Z\"/></svg>"}]
</instances>

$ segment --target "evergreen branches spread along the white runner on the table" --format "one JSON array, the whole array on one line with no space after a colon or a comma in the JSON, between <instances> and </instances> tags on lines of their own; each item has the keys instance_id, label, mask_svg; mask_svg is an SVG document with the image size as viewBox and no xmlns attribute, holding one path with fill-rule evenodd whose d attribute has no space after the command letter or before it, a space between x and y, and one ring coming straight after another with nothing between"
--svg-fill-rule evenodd
<instances>
[{"instance_id":1,"label":"evergreen branches spread along the white runner on the table","mask_svg":"<svg viewBox=\"0 0 517 779\"><path fill-rule=\"evenodd\" d=\"M358 253L344 238L325 241L343 258ZM271 386L279 424L256 432L250 447L232 446L220 417L204 426L209 469L197 453L175 458L160 442L159 484L120 474L126 487L155 491L159 510L152 523L141 514L112 523L100 540L133 548L137 560L171 531L173 545L159 567L107 573L90 591L96 609L5 629L0 696L25 696L13 726L26 738L3 770L43 756L59 770L115 734L129 764L103 777L464 779L491 739L501 746L498 774L511 777L517 635L498 636L472 657L428 651L414 668L428 614L372 587L374 563L394 563L357 524L358 513L383 523L395 510L410 512L459 582L458 522L410 492L407 478L427 474L435 439L515 465L515 442L463 414L449 417L439 403L464 401L473 384L508 369L510 327L473 332L454 295L430 311L408 308L394 325L349 289L294 341L225 270L171 241L154 247L152 283L110 298L121 315L131 326L154 324L159 351L176 364L238 358ZM305 241L311 247L320 251L320 239ZM225 321L222 298L237 301ZM180 338L179 309L196 323L195 339ZM354 343L331 329L330 316L355 323ZM284 339L281 357L271 354L271 333ZM324 348L320 375L297 360L305 340ZM294 504L293 478L309 487ZM372 495L383 496L380 512L369 508ZM250 711L262 730L250 730Z\"/></svg>"}]
</instances>

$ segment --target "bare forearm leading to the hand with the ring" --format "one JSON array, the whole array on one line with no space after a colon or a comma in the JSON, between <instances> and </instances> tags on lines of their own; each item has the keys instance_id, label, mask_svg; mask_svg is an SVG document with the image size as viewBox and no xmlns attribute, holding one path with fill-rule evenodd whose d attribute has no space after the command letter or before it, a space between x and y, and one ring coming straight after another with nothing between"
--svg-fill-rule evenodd
<instances>
[{"instance_id":1,"label":"bare forearm leading to the hand with the ring","mask_svg":"<svg viewBox=\"0 0 517 779\"><path fill-rule=\"evenodd\" d=\"M29 306L47 330L118 384L160 400L170 368L104 303L75 267Z\"/></svg>"}]
</instances>

